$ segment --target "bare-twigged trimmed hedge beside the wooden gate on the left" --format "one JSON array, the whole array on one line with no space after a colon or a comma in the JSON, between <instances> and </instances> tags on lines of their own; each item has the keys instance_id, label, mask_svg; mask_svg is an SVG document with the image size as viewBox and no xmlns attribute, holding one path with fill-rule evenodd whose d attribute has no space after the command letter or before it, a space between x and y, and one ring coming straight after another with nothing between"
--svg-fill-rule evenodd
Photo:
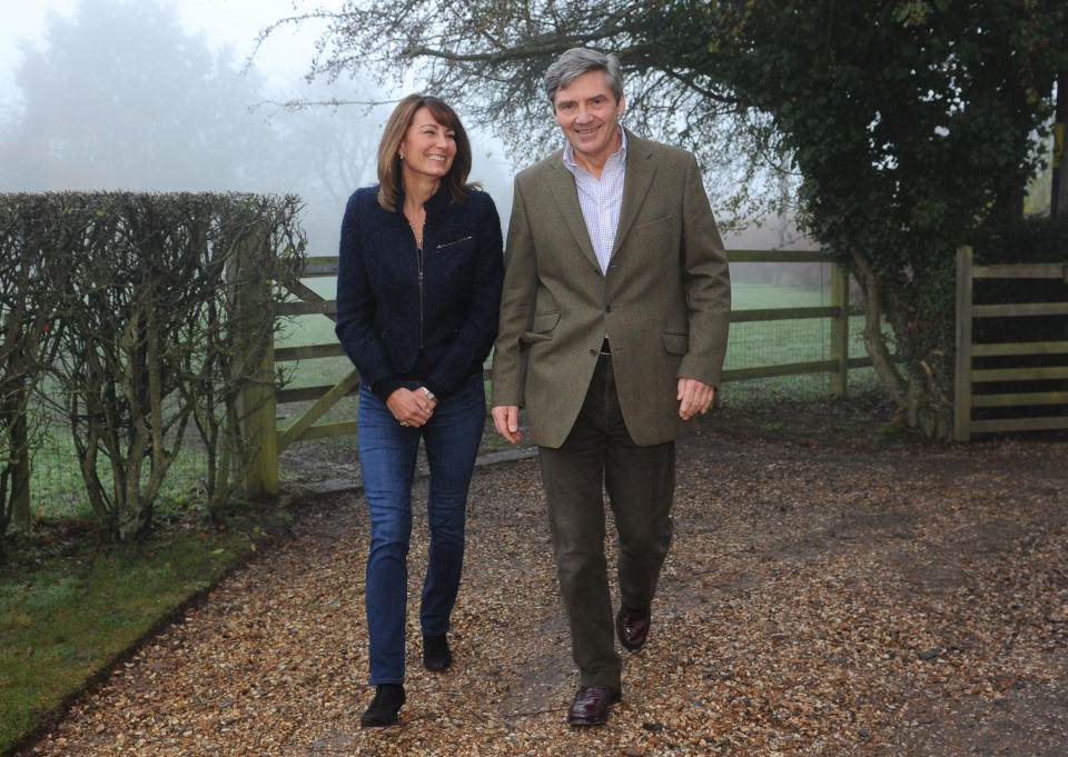
<instances>
[{"instance_id":1,"label":"bare-twigged trimmed hedge beside the wooden gate on the left","mask_svg":"<svg viewBox=\"0 0 1068 757\"><path fill-rule=\"evenodd\" d=\"M69 421L118 540L151 528L190 429L210 505L233 496L239 398L271 343L271 285L303 262L299 211L294 196L0 195L0 537L28 516L32 407Z\"/></svg>"}]
</instances>

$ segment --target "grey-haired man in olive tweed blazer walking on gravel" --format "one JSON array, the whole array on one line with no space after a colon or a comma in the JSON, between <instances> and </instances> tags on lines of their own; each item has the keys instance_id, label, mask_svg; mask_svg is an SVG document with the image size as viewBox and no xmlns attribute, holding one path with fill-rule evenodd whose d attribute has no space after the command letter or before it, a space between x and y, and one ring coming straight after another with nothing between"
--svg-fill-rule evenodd
<instances>
[{"instance_id":1,"label":"grey-haired man in olive tweed blazer walking on gravel","mask_svg":"<svg viewBox=\"0 0 1068 757\"><path fill-rule=\"evenodd\" d=\"M538 446L581 670L567 721L586 726L621 698L602 486L620 537L615 633L640 649L671 541L674 439L720 380L730 279L696 160L620 127L616 57L568 50L545 91L566 145L515 179L493 419L515 444L525 406Z\"/></svg>"}]
</instances>

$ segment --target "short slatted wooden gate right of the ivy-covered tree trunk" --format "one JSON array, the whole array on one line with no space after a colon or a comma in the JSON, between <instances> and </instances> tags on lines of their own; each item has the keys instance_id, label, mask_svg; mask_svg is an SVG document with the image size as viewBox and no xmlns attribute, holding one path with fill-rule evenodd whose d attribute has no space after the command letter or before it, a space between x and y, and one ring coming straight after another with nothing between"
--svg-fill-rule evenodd
<instances>
[{"instance_id":1,"label":"short slatted wooden gate right of the ivy-covered tree trunk","mask_svg":"<svg viewBox=\"0 0 1068 757\"><path fill-rule=\"evenodd\" d=\"M1064 301L975 305L976 279L1052 279L1065 282ZM953 438L968 441L972 434L1037 431L1068 428L1068 416L1009 417L973 420L972 408L1024 408L1068 406L1068 391L1012 391L976 394L982 382L1049 381L1068 379L1068 341L976 343L973 320L1068 316L1068 263L1016 263L975 266L972 249L957 250L957 370L953 401ZM1061 365L977 369L972 358L1060 356Z\"/></svg>"}]
</instances>

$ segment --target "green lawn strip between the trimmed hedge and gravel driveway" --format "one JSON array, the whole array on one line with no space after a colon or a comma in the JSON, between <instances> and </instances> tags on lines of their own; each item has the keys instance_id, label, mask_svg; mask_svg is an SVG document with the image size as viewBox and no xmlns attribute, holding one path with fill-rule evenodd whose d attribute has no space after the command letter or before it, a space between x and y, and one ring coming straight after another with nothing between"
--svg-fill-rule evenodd
<instances>
[{"instance_id":1,"label":"green lawn strip between the trimmed hedge and gravel driveway","mask_svg":"<svg viewBox=\"0 0 1068 757\"><path fill-rule=\"evenodd\" d=\"M9 535L0 565L0 754L273 538L289 514L270 505L217 524L197 509L158 520L138 545L107 544L91 521L76 519Z\"/></svg>"}]
</instances>

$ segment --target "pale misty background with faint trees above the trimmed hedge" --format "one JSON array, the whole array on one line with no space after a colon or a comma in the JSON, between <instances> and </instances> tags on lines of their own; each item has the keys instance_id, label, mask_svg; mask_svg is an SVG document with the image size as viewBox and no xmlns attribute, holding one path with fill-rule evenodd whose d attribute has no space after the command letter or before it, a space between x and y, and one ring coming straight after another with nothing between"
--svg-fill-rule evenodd
<instances>
[{"instance_id":1,"label":"pale misty background with faint trees above the trimmed hedge","mask_svg":"<svg viewBox=\"0 0 1068 757\"><path fill-rule=\"evenodd\" d=\"M417 81L404 91L353 79L309 83L314 23L279 29L249 60L259 30L294 13L290 0L0 8L0 192L295 193L309 255L336 255L348 196L376 181L385 120L418 90ZM295 100L383 104L281 104ZM452 104L463 120L462 103ZM464 126L471 180L506 220L512 166L477 124Z\"/></svg>"}]
</instances>

